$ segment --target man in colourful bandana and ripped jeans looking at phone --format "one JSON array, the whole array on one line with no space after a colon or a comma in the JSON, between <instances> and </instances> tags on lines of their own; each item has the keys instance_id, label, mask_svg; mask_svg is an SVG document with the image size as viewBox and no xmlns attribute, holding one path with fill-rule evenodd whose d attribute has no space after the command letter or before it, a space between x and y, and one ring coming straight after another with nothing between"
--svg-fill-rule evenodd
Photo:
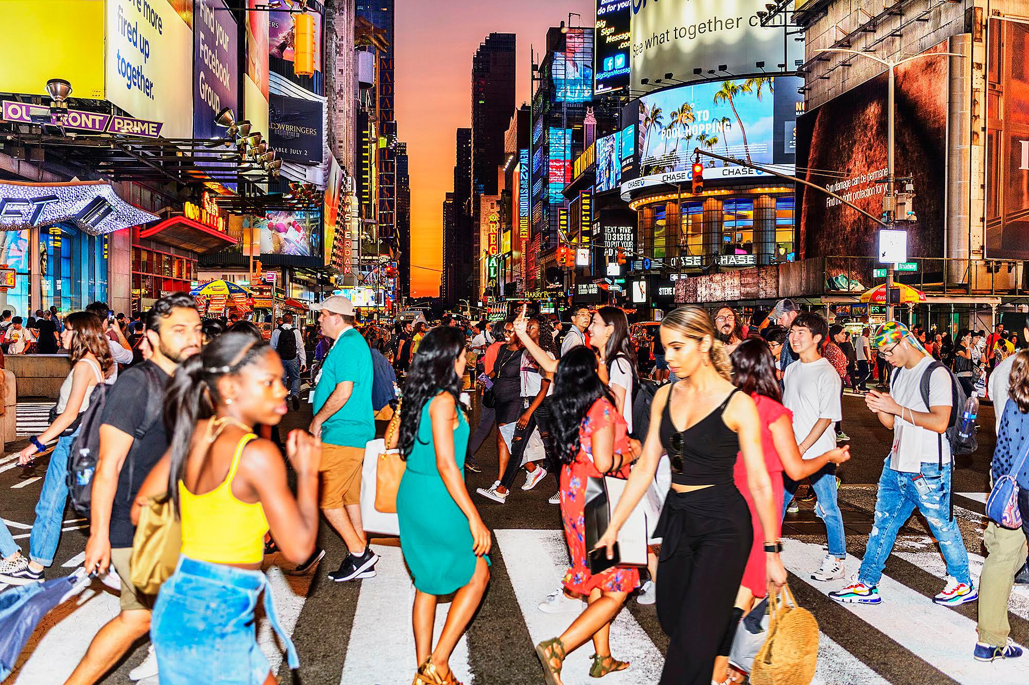
<instances>
[{"instance_id":1,"label":"man in colourful bandana and ripped jeans looking at phone","mask_svg":"<svg viewBox=\"0 0 1029 685\"><path fill-rule=\"evenodd\" d=\"M947 564L947 585L933 602L956 607L979 598L968 574L968 552L951 513L951 444L944 433L951 421L956 380L925 349L908 327L883 324L876 348L893 367L890 392L872 391L864 402L879 422L893 430L893 445L883 464L876 496L876 525L868 535L857 577L847 587L829 592L837 602L879 604L879 580L893 549L897 531L915 507L925 516L939 542ZM928 402L922 378L930 373Z\"/></svg>"}]
</instances>

